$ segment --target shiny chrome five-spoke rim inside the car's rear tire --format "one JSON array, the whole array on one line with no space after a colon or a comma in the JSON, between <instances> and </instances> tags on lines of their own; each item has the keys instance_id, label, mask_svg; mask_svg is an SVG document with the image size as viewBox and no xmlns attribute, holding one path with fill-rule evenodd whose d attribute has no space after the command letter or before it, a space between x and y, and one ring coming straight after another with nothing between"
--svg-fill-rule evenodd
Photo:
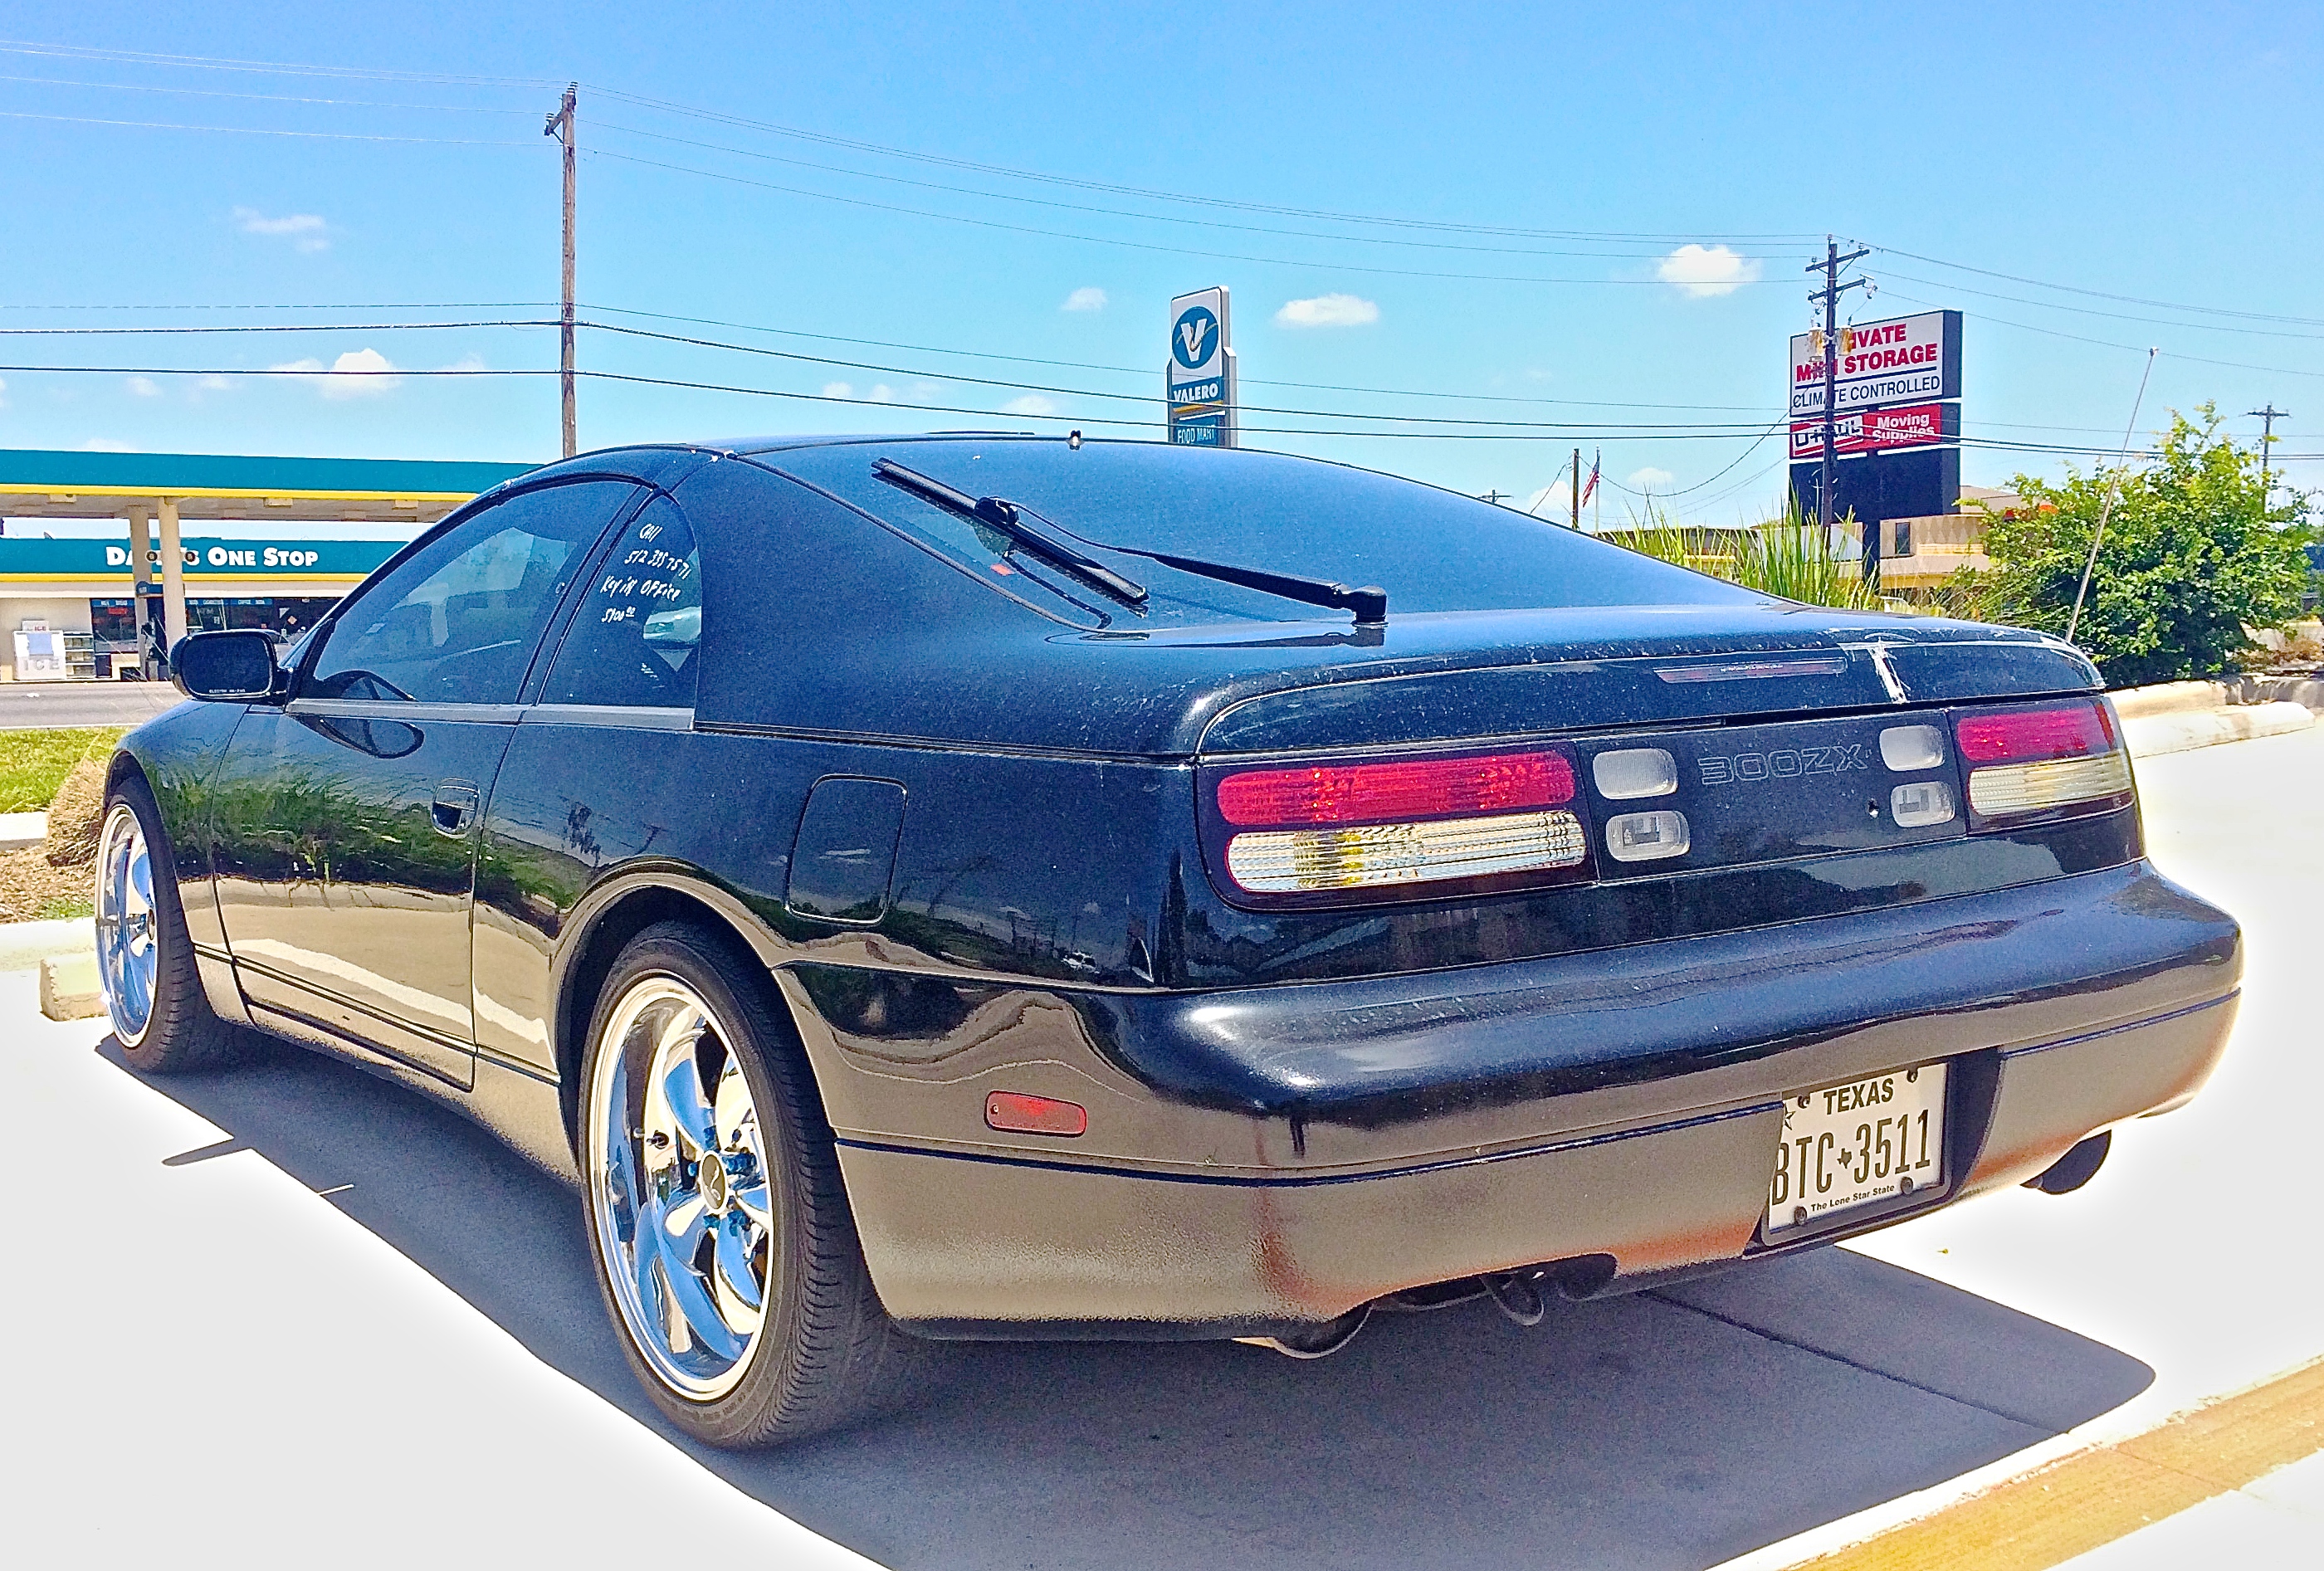
<instances>
[{"instance_id":1,"label":"shiny chrome five-spoke rim inside the car's rear tire","mask_svg":"<svg viewBox=\"0 0 2324 1571\"><path fill-rule=\"evenodd\" d=\"M767 1141L732 1041L683 981L644 976L590 1074L597 1253L630 1341L695 1401L751 1366L774 1269Z\"/></svg>"}]
</instances>

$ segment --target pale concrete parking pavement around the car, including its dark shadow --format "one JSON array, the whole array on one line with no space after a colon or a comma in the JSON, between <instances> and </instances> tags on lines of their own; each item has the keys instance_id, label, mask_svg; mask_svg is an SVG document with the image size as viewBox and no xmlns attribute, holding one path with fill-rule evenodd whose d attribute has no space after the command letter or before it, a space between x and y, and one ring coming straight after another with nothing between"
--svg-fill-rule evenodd
<instances>
[{"instance_id":1,"label":"pale concrete parking pavement around the car, including its dark shadow","mask_svg":"<svg viewBox=\"0 0 2324 1571\"><path fill-rule=\"evenodd\" d=\"M2245 920L2247 995L2205 1095L2122 1129L2078 1195L1534 1329L1383 1315L1311 1364L948 1348L909 1411L744 1457L655 1420L576 1197L458 1116L293 1048L142 1081L0 976L0 1513L42 1564L91 1566L1794 1564L2324 1353L2296 1199L2324 1092L2324 732L2138 776L2157 862ZM2268 1536L2298 1520L2284 1487L2240 1501L2273 1515L2236 1564L2308 1564L2271 1559L2315 1543L2312 1520ZM2143 1538L2106 1564L2182 1564Z\"/></svg>"}]
</instances>

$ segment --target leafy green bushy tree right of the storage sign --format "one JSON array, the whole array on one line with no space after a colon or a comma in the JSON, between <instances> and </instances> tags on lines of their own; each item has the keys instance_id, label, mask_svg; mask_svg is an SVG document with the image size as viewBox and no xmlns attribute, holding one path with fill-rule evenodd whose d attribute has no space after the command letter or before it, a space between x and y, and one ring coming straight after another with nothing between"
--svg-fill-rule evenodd
<instances>
[{"instance_id":1,"label":"leafy green bushy tree right of the storage sign","mask_svg":"<svg viewBox=\"0 0 2324 1571\"><path fill-rule=\"evenodd\" d=\"M2219 432L2215 404L2196 421L2171 411L2161 458L2147 469L2075 474L2050 486L2020 474L2024 507L1985 532L1994 620L2066 632L2089 537L2106 518L2075 641L2113 688L2236 669L2247 627L2278 627L2301 609L2308 579L2308 500L2266 507L2259 449Z\"/></svg>"}]
</instances>

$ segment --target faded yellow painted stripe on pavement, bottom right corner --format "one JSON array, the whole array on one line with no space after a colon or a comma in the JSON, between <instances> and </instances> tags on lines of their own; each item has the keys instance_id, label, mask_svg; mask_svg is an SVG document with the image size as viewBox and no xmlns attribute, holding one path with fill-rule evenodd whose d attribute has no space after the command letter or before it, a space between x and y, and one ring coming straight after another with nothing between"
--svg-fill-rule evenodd
<instances>
[{"instance_id":1,"label":"faded yellow painted stripe on pavement, bottom right corner","mask_svg":"<svg viewBox=\"0 0 2324 1571\"><path fill-rule=\"evenodd\" d=\"M2317 1450L2324 1360L1801 1562L1801 1571L2047 1571Z\"/></svg>"}]
</instances>

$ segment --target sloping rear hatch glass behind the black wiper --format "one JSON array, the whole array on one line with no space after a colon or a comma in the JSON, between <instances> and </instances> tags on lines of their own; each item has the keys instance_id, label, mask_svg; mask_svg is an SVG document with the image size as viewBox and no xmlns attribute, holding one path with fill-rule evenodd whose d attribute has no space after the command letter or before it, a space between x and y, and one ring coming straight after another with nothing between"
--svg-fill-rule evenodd
<instances>
[{"instance_id":1,"label":"sloping rear hatch glass behind the black wiper","mask_svg":"<svg viewBox=\"0 0 2324 1571\"><path fill-rule=\"evenodd\" d=\"M1752 602L1715 579L1576 535L1564 525L1413 481L1276 453L1218 453L1148 442L937 439L767 453L797 474L934 548L992 574L995 588L1039 604L1039 590L1120 607L1048 572L1006 539L871 476L890 458L971 497L1030 507L1076 544L1134 546L1234 567L1387 590L1404 611L1515 611L1532 607ZM1134 555L1097 553L1143 583L1169 620L1260 616L1336 618L1255 590L1213 583ZM1006 572L995 572L995 569ZM1030 567L1030 572L1027 572ZM1085 620L1050 600L1041 609Z\"/></svg>"}]
</instances>

